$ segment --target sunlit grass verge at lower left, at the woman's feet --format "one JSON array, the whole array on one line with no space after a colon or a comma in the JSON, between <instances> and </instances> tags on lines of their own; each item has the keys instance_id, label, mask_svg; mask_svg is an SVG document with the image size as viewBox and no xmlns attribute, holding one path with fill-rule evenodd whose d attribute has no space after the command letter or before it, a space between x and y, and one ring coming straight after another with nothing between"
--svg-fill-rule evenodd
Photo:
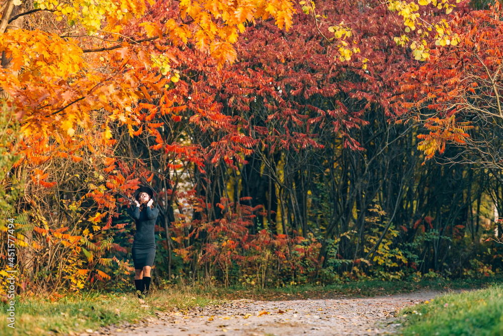
<instances>
[{"instance_id":1,"label":"sunlit grass verge at lower left, at the woman's feet","mask_svg":"<svg viewBox=\"0 0 503 336\"><path fill-rule=\"evenodd\" d=\"M7 305L0 303L0 332L2 335L79 334L102 326L127 321L135 323L155 311L170 311L174 307L187 309L203 307L211 299L195 295L189 289L156 291L146 303L139 303L133 293L103 294L99 292L68 294L51 302L42 296L16 298L15 329L7 326ZM144 305L145 307L142 307Z\"/></svg>"}]
</instances>

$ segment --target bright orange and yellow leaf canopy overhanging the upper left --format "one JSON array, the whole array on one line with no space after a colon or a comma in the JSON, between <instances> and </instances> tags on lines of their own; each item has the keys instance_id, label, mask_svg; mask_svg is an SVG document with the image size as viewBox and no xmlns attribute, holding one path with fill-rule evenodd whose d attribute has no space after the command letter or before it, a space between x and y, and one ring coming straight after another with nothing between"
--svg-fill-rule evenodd
<instances>
[{"instance_id":1,"label":"bright orange and yellow leaf canopy overhanging the upper left","mask_svg":"<svg viewBox=\"0 0 503 336\"><path fill-rule=\"evenodd\" d=\"M8 0L6 10L17 3ZM232 44L245 26L273 17L288 29L294 14L290 0L110 0L94 5L35 0L34 8L21 6L21 16L48 19L51 27L41 23L34 30L0 32L0 51L11 57L9 66L0 69L0 87L12 98L8 104L25 136L16 166L38 165L53 156L78 161L86 147L95 153L114 144L112 120L127 125L131 137L138 135L139 101L150 100L151 90L161 93L160 75L168 76L162 85L180 78L171 67L177 59L163 53L162 45L195 44L220 67L235 60ZM79 132L78 126L93 131Z\"/></svg>"}]
</instances>

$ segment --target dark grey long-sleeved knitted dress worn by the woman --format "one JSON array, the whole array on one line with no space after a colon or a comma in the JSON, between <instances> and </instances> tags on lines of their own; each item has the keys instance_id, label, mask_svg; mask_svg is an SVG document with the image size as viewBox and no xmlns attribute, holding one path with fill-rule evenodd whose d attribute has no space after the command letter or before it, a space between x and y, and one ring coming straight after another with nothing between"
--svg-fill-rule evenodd
<instances>
[{"instance_id":1,"label":"dark grey long-sleeved knitted dress worn by the woman","mask_svg":"<svg viewBox=\"0 0 503 336\"><path fill-rule=\"evenodd\" d=\"M154 226L159 209L145 207L140 212L140 207L135 207L132 217L136 222L136 233L133 239L133 262L135 270L141 270L144 266L152 266L155 258L155 235Z\"/></svg>"}]
</instances>

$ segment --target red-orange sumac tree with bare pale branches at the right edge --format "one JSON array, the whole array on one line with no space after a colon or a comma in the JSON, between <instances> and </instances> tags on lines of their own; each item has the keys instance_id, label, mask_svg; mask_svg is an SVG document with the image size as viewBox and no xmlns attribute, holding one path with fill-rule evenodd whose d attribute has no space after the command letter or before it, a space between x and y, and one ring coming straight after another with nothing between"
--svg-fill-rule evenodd
<instances>
[{"instance_id":1,"label":"red-orange sumac tree with bare pale branches at the right edge","mask_svg":"<svg viewBox=\"0 0 503 336\"><path fill-rule=\"evenodd\" d=\"M450 144L461 152L439 160L474 164L491 172L503 167L500 7L496 2L489 11L456 14L450 27L460 36L459 44L438 45L426 64L402 77L396 105L410 110L401 120L420 121L430 130L418 136L423 140L418 149L427 160L443 154Z\"/></svg>"}]
</instances>

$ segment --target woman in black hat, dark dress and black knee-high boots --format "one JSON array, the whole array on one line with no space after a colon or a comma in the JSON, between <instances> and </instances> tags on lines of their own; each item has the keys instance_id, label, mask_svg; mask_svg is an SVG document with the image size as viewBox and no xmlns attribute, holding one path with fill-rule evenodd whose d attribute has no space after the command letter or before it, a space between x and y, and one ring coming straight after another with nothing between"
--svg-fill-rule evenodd
<instances>
[{"instance_id":1,"label":"woman in black hat, dark dress and black knee-high boots","mask_svg":"<svg viewBox=\"0 0 503 336\"><path fill-rule=\"evenodd\" d=\"M136 233L131 250L135 268L134 286L140 299L141 294L148 295L150 268L155 258L154 227L159 209L152 207L152 197L153 190L150 187L136 189L134 192L136 207L131 215L136 223Z\"/></svg>"}]
</instances>

